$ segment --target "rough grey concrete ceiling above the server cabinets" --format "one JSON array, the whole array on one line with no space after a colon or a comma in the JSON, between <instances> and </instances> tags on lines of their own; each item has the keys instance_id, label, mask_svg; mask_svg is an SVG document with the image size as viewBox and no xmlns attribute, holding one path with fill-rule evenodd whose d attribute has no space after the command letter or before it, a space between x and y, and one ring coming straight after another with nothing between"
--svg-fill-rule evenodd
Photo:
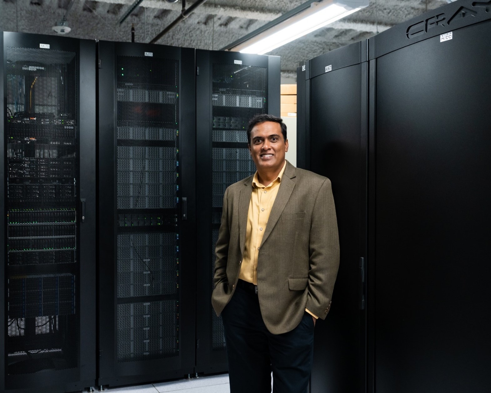
<instances>
[{"instance_id":1,"label":"rough grey concrete ceiling above the server cabinets","mask_svg":"<svg viewBox=\"0 0 491 393\"><path fill-rule=\"evenodd\" d=\"M305 0L208 0L165 34L159 44L218 50ZM193 1L186 2L187 7ZM305 60L349 45L446 4L447 0L370 0L370 5L326 28L280 47L282 83L295 83ZM65 15L70 0L0 0L0 30L56 34L52 26ZM133 0L75 0L67 15L69 37L149 42L181 12L181 1L144 0L120 25Z\"/></svg>"}]
</instances>

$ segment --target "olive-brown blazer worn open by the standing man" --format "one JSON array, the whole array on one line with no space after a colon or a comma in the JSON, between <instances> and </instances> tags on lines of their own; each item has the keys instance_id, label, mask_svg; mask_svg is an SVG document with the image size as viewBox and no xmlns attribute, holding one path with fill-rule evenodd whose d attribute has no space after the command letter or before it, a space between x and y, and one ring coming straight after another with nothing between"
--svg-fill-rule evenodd
<instances>
[{"instance_id":1,"label":"olive-brown blazer worn open by the standing man","mask_svg":"<svg viewBox=\"0 0 491 393\"><path fill-rule=\"evenodd\" d=\"M252 178L225 191L212 304L217 315L237 286L246 244ZM331 182L288 161L257 261L259 305L273 334L289 332L305 308L324 319L339 266L339 239Z\"/></svg>"}]
</instances>

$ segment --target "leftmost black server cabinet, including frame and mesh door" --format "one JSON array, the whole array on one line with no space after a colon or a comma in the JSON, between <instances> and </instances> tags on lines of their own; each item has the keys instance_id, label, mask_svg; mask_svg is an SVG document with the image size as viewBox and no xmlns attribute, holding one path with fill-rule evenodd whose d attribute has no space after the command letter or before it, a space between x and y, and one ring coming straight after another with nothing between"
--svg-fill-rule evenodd
<instances>
[{"instance_id":1,"label":"leftmost black server cabinet, including frame and mesh door","mask_svg":"<svg viewBox=\"0 0 491 393\"><path fill-rule=\"evenodd\" d=\"M0 390L95 382L95 42L1 33Z\"/></svg>"}]
</instances>

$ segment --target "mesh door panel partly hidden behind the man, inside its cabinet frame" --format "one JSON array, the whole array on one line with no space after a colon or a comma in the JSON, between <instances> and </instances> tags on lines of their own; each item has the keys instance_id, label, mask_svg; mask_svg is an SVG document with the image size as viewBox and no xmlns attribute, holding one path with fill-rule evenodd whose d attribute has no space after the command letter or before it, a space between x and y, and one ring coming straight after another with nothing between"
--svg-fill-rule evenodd
<instances>
[{"instance_id":1,"label":"mesh door panel partly hidden behind the man, inside its cabinet frame","mask_svg":"<svg viewBox=\"0 0 491 393\"><path fill-rule=\"evenodd\" d=\"M231 184L256 171L247 148L247 122L267 113L268 69L242 64L213 64L212 68L212 244L211 281L215 271L222 199ZM212 351L225 349L223 325L211 310Z\"/></svg>"}]
</instances>

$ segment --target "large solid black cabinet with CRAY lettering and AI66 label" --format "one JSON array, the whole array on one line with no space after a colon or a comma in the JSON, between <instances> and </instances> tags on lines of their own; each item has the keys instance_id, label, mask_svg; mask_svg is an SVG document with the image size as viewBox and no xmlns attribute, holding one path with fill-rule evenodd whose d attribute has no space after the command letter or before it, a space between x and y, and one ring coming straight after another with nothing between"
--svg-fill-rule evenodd
<instances>
[{"instance_id":1,"label":"large solid black cabinet with CRAY lettering and AI66 label","mask_svg":"<svg viewBox=\"0 0 491 393\"><path fill-rule=\"evenodd\" d=\"M369 392L490 391L490 11L370 39Z\"/></svg>"}]
</instances>

